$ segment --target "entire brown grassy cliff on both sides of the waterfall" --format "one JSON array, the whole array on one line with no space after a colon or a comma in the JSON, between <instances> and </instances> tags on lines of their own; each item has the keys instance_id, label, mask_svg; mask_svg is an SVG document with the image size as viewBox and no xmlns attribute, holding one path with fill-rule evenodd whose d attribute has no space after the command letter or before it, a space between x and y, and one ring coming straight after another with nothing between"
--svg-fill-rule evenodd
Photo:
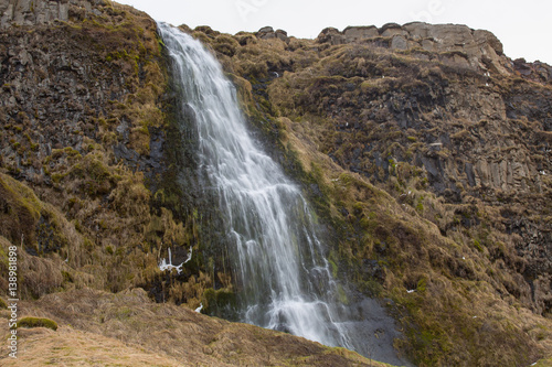
<instances>
[{"instance_id":1,"label":"entire brown grassy cliff on both sides of the waterfall","mask_svg":"<svg viewBox=\"0 0 552 367\"><path fill-rule=\"evenodd\" d=\"M238 284L213 198L194 187L190 132L172 123L178 100L147 14L105 0L3 0L0 14L3 294L17 244L24 312L59 322L60 341L92 332L98 347L141 345L145 365L372 363L182 310L232 317ZM388 306L403 355L420 366L551 357L549 65L511 61L464 25L316 40L181 29L217 55L326 228L335 274ZM174 263L192 250L182 274L158 268L169 246ZM23 343L61 358L49 333Z\"/></svg>"}]
</instances>

